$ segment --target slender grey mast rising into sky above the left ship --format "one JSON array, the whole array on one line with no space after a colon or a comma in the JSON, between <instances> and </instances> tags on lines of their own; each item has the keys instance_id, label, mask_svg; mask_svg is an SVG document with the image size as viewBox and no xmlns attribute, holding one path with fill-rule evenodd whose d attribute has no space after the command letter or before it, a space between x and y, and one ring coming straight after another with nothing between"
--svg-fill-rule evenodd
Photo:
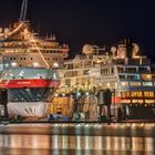
<instances>
[{"instance_id":1,"label":"slender grey mast rising into sky above the left ship","mask_svg":"<svg viewBox=\"0 0 155 155\"><path fill-rule=\"evenodd\" d=\"M25 20L27 8L28 8L28 0L22 0L21 12L20 12L20 21Z\"/></svg>"}]
</instances>

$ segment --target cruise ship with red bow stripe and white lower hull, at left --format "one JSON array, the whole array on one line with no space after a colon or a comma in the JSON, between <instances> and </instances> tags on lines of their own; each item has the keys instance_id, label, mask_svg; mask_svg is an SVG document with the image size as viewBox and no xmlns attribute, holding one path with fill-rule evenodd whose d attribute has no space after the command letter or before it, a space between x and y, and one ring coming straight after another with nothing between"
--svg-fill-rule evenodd
<instances>
[{"instance_id":1,"label":"cruise ship with red bow stripe and white lower hull, at left","mask_svg":"<svg viewBox=\"0 0 155 155\"><path fill-rule=\"evenodd\" d=\"M69 46L55 37L41 38L30 22L0 28L0 87L8 92L9 115L43 116L60 84Z\"/></svg>"}]
</instances>

